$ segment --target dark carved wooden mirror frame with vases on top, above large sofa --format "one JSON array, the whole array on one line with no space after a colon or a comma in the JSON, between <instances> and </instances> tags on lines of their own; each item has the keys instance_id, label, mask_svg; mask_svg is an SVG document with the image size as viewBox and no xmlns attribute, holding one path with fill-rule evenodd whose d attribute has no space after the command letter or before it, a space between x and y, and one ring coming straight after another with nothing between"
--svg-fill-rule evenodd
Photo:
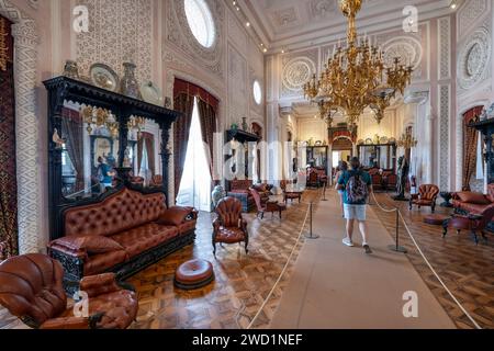
<instances>
[{"instance_id":1,"label":"dark carved wooden mirror frame with vases on top, above large sofa","mask_svg":"<svg viewBox=\"0 0 494 351\"><path fill-rule=\"evenodd\" d=\"M171 154L167 146L170 138L171 126L181 116L179 112L127 98L67 77L56 77L46 80L44 81L44 86L48 91L48 206L50 240L55 240L64 236L63 216L65 211L68 208L99 203L104 201L104 199L112 195L114 192L120 191L123 186L132 188L132 184L128 182L130 169L122 167L125 158L125 149L131 143L127 140L127 122L132 115L153 120L159 125L161 131L160 156L164 177L161 189L155 188L135 190L144 193L162 192L168 199L168 165ZM63 131L61 112L65 101L74 101L81 104L108 109L111 110L117 117L120 147L117 155L119 168L116 171L119 172L117 177L120 182L114 190L101 194L98 197L69 200L63 195L63 150L57 148L57 145L52 140L52 136L55 129ZM60 135L60 137L64 138L64 135Z\"/></svg>"}]
</instances>

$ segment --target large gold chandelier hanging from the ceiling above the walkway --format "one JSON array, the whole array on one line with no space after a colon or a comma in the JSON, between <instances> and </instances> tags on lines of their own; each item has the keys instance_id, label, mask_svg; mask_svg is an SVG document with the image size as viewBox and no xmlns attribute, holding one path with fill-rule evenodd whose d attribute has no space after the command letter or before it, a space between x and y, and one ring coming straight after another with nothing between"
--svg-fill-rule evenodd
<instances>
[{"instance_id":1,"label":"large gold chandelier hanging from the ceiling above the walkway","mask_svg":"<svg viewBox=\"0 0 494 351\"><path fill-rule=\"evenodd\" d=\"M343 111L350 128L356 127L367 107L374 111L381 123L384 110L397 92L404 93L413 73L413 67L402 65L398 57L393 67L385 67L383 53L377 46L370 45L368 38L358 41L356 16L361 5L362 0L339 0L339 8L348 18L347 47L335 47L319 79L314 75L304 86L305 97L319 104L321 113Z\"/></svg>"}]
</instances>

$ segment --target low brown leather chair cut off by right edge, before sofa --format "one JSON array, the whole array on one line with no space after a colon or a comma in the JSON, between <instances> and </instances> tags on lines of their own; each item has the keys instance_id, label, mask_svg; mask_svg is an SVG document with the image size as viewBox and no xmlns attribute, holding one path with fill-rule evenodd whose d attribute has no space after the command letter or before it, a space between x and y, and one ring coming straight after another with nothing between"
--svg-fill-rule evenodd
<instances>
[{"instance_id":1,"label":"low brown leather chair cut off by right edge, before sofa","mask_svg":"<svg viewBox=\"0 0 494 351\"><path fill-rule=\"evenodd\" d=\"M494 207L487 207L481 214L469 214L469 215L458 215L454 214L451 219L445 222L444 225L444 235L446 238L448 235L448 229L457 229L457 233L460 234L461 230L470 230L473 234L473 238L475 244L479 245L479 236L478 233L482 234L482 237L487 240L487 236L485 234L485 228L494 218Z\"/></svg>"}]
</instances>

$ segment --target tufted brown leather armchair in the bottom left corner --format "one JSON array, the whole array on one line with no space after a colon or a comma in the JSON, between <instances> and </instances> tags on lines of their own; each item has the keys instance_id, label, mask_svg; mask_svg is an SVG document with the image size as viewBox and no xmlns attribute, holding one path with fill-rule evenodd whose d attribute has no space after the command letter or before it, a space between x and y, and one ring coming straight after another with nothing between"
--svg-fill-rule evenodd
<instances>
[{"instance_id":1,"label":"tufted brown leather armchair in the bottom left corner","mask_svg":"<svg viewBox=\"0 0 494 351\"><path fill-rule=\"evenodd\" d=\"M135 320L136 295L120 287L113 273L80 282L88 294L88 317L67 308L63 278L61 264L47 256L11 258L0 264L0 305L35 329L125 329Z\"/></svg>"}]
</instances>

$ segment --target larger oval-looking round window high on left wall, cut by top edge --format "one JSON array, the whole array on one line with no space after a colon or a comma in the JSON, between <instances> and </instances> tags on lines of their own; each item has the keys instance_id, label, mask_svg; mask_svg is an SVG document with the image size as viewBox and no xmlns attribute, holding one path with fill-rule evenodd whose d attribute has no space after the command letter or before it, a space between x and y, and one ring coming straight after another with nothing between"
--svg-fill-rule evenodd
<instances>
[{"instance_id":1,"label":"larger oval-looking round window high on left wall, cut by top edge","mask_svg":"<svg viewBox=\"0 0 494 351\"><path fill-rule=\"evenodd\" d=\"M213 14L205 0L184 0L187 22L195 39L210 48L216 38Z\"/></svg>"}]
</instances>

